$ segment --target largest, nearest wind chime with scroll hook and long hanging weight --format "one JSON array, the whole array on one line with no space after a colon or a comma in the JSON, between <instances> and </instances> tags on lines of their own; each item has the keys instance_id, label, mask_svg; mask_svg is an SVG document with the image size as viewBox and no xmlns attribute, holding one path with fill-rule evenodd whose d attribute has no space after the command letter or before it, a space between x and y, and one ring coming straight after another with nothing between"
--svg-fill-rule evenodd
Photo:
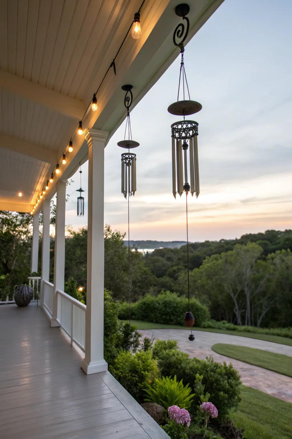
<instances>
[{"instance_id":1,"label":"largest, nearest wind chime with scroll hook and long hanging weight","mask_svg":"<svg viewBox=\"0 0 292 439\"><path fill-rule=\"evenodd\" d=\"M188 282L188 311L185 314L185 325L190 327L189 340L193 341L195 338L192 333L192 327L195 323L193 313L190 311L190 269L189 269L189 236L188 236L188 216L187 216L187 195L190 192L200 194L199 184L199 163L198 163L198 123L193 120L186 120L186 116L197 113L202 109L199 102L191 101L188 83L186 80L186 71L184 67L184 41L189 32L190 22L186 15L190 12L189 5L183 3L176 6L176 15L182 17L186 22L186 29L184 23L179 23L173 33L173 43L179 47L181 53L181 63L179 70L179 89L177 93L177 101L169 105L168 112L173 115L183 116L183 120L175 122L171 125L172 137L172 194L176 198L176 194L181 197L183 192L186 193L186 245L187 245L187 282ZM179 42L177 42L180 40ZM182 83L183 100L179 101L179 90ZM185 85L189 99L185 99ZM189 143L188 143L189 142ZM188 154L190 164L188 166ZM190 175L190 183L188 180L188 168Z\"/></svg>"}]
</instances>

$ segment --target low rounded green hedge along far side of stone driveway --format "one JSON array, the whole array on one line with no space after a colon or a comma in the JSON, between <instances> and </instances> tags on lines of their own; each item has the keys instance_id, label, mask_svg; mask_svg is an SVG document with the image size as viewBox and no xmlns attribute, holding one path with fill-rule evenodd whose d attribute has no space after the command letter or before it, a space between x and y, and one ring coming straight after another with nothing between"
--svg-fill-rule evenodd
<instances>
[{"instance_id":1,"label":"low rounded green hedge along far side of stone driveway","mask_svg":"<svg viewBox=\"0 0 292 439\"><path fill-rule=\"evenodd\" d=\"M184 315L188 310L186 297L176 293L165 291L157 296L147 294L142 299L131 305L131 316L135 320L143 320L152 323L183 325ZM201 326L210 318L208 308L197 299L190 299L190 310L195 317L195 326ZM118 304L118 317L121 320L129 318L129 304Z\"/></svg>"}]
</instances>

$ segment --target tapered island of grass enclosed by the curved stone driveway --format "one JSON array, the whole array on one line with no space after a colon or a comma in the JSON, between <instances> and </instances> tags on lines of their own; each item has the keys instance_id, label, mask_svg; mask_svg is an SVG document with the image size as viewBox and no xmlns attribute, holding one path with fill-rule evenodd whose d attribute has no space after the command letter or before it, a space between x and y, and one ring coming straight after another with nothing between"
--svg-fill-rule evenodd
<instances>
[{"instance_id":1,"label":"tapered island of grass enclosed by the curved stone driveway","mask_svg":"<svg viewBox=\"0 0 292 439\"><path fill-rule=\"evenodd\" d=\"M223 343L213 345L212 350L235 360L244 361L245 363L264 367L264 369L269 371L292 377L292 357L288 355Z\"/></svg>"}]
</instances>

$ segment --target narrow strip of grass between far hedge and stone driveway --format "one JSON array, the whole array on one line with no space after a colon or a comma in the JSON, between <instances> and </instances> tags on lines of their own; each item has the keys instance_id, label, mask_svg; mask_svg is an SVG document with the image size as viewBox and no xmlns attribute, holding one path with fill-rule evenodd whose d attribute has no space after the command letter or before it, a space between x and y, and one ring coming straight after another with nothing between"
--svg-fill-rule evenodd
<instances>
[{"instance_id":1,"label":"narrow strip of grass between far hedge and stone driveway","mask_svg":"<svg viewBox=\"0 0 292 439\"><path fill-rule=\"evenodd\" d=\"M128 320L122 320L128 322ZM137 326L137 329L187 329L186 326L179 325L165 325L160 323L143 322L142 320L131 320L133 325ZM238 335L239 337L256 338L257 340L265 340L266 342L280 343L281 345L292 346L292 338L280 337L279 335L268 334L256 334L253 332L241 332L241 331L229 331L226 329L213 329L213 328L198 328L193 327L194 331L204 332L217 332L219 334Z\"/></svg>"}]
</instances>

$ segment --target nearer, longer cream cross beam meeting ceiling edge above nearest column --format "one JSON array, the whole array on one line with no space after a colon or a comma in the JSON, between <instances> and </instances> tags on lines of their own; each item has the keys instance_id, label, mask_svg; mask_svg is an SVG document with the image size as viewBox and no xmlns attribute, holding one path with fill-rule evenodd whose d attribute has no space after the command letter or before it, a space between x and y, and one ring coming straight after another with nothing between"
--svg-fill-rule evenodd
<instances>
[{"instance_id":1,"label":"nearer, longer cream cross beam meeting ceiling edge above nearest column","mask_svg":"<svg viewBox=\"0 0 292 439\"><path fill-rule=\"evenodd\" d=\"M81 120L85 112L83 102L4 70L0 70L0 88L73 119Z\"/></svg>"}]
</instances>

